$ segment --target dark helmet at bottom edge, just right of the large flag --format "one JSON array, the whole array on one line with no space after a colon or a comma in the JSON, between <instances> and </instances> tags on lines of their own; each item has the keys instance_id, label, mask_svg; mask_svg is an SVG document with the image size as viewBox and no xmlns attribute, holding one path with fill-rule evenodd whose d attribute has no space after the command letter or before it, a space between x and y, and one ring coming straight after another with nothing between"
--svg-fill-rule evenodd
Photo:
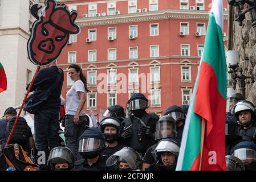
<instances>
[{"instance_id":1,"label":"dark helmet at bottom edge, just right of the large flag","mask_svg":"<svg viewBox=\"0 0 256 182\"><path fill-rule=\"evenodd\" d=\"M226 155L227 171L245 171L245 164L234 155Z\"/></svg>"}]
</instances>

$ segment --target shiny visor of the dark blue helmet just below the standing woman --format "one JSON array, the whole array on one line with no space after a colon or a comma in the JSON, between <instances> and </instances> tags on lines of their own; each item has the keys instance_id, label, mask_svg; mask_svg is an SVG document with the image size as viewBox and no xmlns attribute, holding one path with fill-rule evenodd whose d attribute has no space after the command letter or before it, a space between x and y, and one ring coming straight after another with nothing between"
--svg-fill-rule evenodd
<instances>
[{"instance_id":1,"label":"shiny visor of the dark blue helmet just below the standing woman","mask_svg":"<svg viewBox=\"0 0 256 182\"><path fill-rule=\"evenodd\" d=\"M91 152L101 150L105 141L97 138L83 138L79 140L78 152Z\"/></svg>"}]
</instances>

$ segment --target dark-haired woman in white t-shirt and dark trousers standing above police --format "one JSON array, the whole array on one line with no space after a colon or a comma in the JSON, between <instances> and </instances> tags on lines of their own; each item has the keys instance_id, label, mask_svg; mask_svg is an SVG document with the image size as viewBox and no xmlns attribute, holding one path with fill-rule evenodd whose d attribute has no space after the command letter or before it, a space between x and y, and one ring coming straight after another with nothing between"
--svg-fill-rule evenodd
<instances>
[{"instance_id":1,"label":"dark-haired woman in white t-shirt and dark trousers standing above police","mask_svg":"<svg viewBox=\"0 0 256 182\"><path fill-rule=\"evenodd\" d=\"M76 64L71 64L68 67L68 75L74 81L74 84L68 90L66 97L64 136L67 147L71 149L77 159L81 159L82 157L78 153L78 138L89 126L89 121L87 121L83 109L86 103L86 92L88 91L87 81L82 69Z\"/></svg>"}]
</instances>

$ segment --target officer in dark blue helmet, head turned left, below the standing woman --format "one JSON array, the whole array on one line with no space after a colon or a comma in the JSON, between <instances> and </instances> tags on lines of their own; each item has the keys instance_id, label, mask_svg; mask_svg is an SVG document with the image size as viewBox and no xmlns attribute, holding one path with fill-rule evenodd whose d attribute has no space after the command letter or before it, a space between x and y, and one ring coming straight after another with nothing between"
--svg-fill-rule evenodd
<instances>
[{"instance_id":1,"label":"officer in dark blue helmet, head turned left, below the standing woman","mask_svg":"<svg viewBox=\"0 0 256 182\"><path fill-rule=\"evenodd\" d=\"M105 137L98 128L90 127L79 137L78 152L83 159L76 160L75 171L105 171L107 156L101 155L105 148Z\"/></svg>"}]
</instances>

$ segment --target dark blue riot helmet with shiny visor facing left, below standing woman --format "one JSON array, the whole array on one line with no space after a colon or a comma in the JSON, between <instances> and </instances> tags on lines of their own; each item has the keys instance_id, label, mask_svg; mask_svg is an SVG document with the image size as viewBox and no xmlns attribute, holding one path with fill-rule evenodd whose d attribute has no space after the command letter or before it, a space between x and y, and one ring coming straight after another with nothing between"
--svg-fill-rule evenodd
<instances>
[{"instance_id":1,"label":"dark blue riot helmet with shiny visor facing left, below standing woman","mask_svg":"<svg viewBox=\"0 0 256 182\"><path fill-rule=\"evenodd\" d=\"M90 127L79 137L78 152L84 159L100 155L105 148L105 137L96 127Z\"/></svg>"}]
</instances>

